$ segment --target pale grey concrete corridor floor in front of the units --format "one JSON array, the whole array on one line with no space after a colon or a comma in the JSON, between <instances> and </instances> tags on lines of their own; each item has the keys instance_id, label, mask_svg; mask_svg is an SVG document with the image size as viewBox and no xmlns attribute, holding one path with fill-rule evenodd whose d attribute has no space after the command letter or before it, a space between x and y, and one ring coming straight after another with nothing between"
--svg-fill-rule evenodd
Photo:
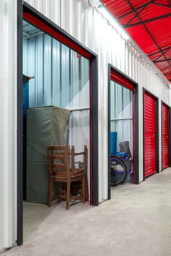
<instances>
[{"instance_id":1,"label":"pale grey concrete corridor floor in front of the units","mask_svg":"<svg viewBox=\"0 0 171 256\"><path fill-rule=\"evenodd\" d=\"M171 168L140 185L112 189L98 207L65 203L28 237L2 256L170 256Z\"/></svg>"}]
</instances>

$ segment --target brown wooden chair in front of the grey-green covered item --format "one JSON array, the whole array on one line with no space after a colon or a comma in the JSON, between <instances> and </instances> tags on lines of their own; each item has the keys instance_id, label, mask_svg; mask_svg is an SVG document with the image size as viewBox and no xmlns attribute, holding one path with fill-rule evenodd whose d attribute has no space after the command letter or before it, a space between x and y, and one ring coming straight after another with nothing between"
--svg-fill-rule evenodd
<instances>
[{"instance_id":1,"label":"brown wooden chair in front of the grey-green covered item","mask_svg":"<svg viewBox=\"0 0 171 256\"><path fill-rule=\"evenodd\" d=\"M53 182L66 184L66 190L58 194L58 197L66 200L66 210L69 209L71 200L82 200L85 203L87 154L87 146L84 146L84 151L79 153L75 153L74 146L72 146L71 152L69 146L47 146L49 167L48 206L52 206ZM81 155L83 157L83 165L75 167L75 157ZM71 195L71 184L75 181L81 181L82 191L78 195Z\"/></svg>"}]
</instances>

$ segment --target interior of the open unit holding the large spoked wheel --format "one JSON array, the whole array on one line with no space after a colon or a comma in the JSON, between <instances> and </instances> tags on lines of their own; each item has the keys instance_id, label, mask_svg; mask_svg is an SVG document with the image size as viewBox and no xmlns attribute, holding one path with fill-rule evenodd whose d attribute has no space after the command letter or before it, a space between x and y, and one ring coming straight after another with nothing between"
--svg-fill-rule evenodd
<instances>
[{"instance_id":1,"label":"interior of the open unit holding the large spoked wheel","mask_svg":"<svg viewBox=\"0 0 171 256\"><path fill-rule=\"evenodd\" d=\"M133 92L119 83L110 81L110 153L121 157L127 167L122 184L133 182ZM113 168L117 169L113 173ZM111 184L121 176L121 166L111 159ZM113 174L112 174L113 173ZM118 181L116 181L118 182Z\"/></svg>"}]
</instances>

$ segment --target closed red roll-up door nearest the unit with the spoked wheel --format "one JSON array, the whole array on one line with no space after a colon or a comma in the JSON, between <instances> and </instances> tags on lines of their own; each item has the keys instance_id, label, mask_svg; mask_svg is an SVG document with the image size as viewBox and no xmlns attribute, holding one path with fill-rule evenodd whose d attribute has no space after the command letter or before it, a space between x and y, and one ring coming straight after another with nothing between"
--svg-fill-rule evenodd
<instances>
[{"instance_id":1,"label":"closed red roll-up door nearest the unit with the spoked wheel","mask_svg":"<svg viewBox=\"0 0 171 256\"><path fill-rule=\"evenodd\" d=\"M145 91L144 136L145 177L156 173L156 98Z\"/></svg>"}]
</instances>

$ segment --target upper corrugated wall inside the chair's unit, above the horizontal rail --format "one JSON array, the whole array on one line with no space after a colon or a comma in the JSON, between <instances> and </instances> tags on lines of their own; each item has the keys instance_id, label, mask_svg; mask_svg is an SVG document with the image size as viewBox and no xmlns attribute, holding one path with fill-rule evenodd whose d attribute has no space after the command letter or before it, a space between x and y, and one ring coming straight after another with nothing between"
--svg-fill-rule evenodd
<instances>
[{"instance_id":1,"label":"upper corrugated wall inside the chair's unit, above the horizontal rail","mask_svg":"<svg viewBox=\"0 0 171 256\"><path fill-rule=\"evenodd\" d=\"M46 34L23 40L23 74L30 108L89 108L89 61Z\"/></svg>"}]
</instances>

